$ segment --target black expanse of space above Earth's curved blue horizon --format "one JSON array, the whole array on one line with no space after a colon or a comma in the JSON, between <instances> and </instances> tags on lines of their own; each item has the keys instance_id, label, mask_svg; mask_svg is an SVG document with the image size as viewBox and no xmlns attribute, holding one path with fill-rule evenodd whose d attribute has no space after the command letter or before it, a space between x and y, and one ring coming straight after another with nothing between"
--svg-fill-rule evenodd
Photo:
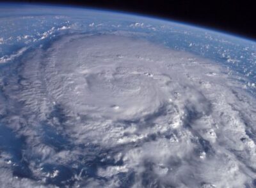
<instances>
[{"instance_id":1,"label":"black expanse of space above Earth's curved blue horizon","mask_svg":"<svg viewBox=\"0 0 256 188\"><path fill-rule=\"evenodd\" d=\"M8 1L10 3L10 1ZM12 1L50 3L128 11L218 29L256 40L256 1L189 0L45 0Z\"/></svg>"}]
</instances>

